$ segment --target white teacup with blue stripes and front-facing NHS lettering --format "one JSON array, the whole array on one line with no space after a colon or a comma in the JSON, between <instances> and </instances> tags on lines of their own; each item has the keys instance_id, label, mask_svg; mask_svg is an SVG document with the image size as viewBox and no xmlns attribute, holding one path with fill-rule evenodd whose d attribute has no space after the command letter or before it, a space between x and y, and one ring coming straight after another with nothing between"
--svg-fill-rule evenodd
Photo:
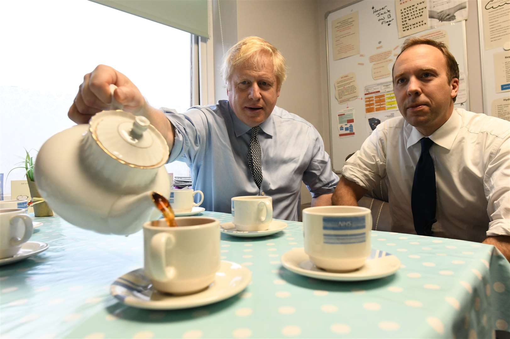
<instances>
[{"instance_id":1,"label":"white teacup with blue stripes and front-facing NHS lettering","mask_svg":"<svg viewBox=\"0 0 510 339\"><path fill-rule=\"evenodd\" d=\"M353 271L370 254L372 214L358 206L317 206L303 210L304 251L327 271Z\"/></svg>"}]
</instances>

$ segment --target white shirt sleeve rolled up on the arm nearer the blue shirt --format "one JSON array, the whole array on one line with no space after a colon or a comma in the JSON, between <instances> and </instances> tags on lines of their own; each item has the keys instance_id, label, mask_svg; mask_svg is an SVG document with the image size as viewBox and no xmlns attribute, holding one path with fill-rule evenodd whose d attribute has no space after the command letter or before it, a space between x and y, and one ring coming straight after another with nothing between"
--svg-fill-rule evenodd
<instances>
[{"instance_id":1,"label":"white shirt sleeve rolled up on the arm nearer the blue shirt","mask_svg":"<svg viewBox=\"0 0 510 339\"><path fill-rule=\"evenodd\" d=\"M379 124L342 168L342 175L346 179L368 191L376 188L381 177L386 176L385 127L385 122Z\"/></svg>"}]
</instances>

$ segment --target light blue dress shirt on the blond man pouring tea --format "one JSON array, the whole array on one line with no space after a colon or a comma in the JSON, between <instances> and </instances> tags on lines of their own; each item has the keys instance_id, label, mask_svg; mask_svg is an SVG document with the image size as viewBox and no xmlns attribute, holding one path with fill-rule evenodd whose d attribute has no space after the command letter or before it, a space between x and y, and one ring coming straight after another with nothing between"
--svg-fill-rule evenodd
<instances>
[{"instance_id":1,"label":"light blue dress shirt on the blond man pouring tea","mask_svg":"<svg viewBox=\"0 0 510 339\"><path fill-rule=\"evenodd\" d=\"M259 189L248 167L250 126L235 115L227 100L195 106L185 114L163 109L175 127L168 162L185 162L193 189L203 192L207 211L231 213L231 198L266 195L273 217L297 220L301 181L312 197L333 193L338 176L331 170L322 138L308 121L274 107L260 127L263 180Z\"/></svg>"}]
</instances>

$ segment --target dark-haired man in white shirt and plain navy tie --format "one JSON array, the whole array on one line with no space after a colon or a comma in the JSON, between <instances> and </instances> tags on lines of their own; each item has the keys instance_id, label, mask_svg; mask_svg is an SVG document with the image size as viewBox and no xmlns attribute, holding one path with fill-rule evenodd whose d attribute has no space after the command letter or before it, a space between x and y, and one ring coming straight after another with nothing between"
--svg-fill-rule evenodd
<instances>
[{"instance_id":1,"label":"dark-haired man in white shirt and plain navy tie","mask_svg":"<svg viewBox=\"0 0 510 339\"><path fill-rule=\"evenodd\" d=\"M393 66L402 117L346 161L335 205L389 189L392 231L488 243L510 260L510 122L454 109L458 65L446 45L411 38Z\"/></svg>"}]
</instances>

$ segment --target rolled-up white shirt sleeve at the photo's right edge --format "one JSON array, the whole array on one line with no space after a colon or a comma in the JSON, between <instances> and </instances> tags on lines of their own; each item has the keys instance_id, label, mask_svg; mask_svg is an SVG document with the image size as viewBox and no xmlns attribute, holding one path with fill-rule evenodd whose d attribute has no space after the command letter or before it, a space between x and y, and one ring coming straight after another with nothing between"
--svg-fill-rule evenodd
<instances>
[{"instance_id":1,"label":"rolled-up white shirt sleeve at the photo's right edge","mask_svg":"<svg viewBox=\"0 0 510 339\"><path fill-rule=\"evenodd\" d=\"M510 136L493 146L483 177L487 198L487 236L510 236Z\"/></svg>"}]
</instances>

